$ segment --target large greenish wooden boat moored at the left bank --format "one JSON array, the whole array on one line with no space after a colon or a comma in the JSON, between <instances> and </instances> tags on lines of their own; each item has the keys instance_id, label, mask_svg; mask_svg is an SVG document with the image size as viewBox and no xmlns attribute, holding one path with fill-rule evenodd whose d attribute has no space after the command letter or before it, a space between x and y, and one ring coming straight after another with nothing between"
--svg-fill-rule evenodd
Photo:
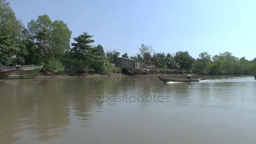
<instances>
[{"instance_id":1,"label":"large greenish wooden boat moored at the left bank","mask_svg":"<svg viewBox=\"0 0 256 144\"><path fill-rule=\"evenodd\" d=\"M0 64L0 79L32 79L43 66L18 65L13 67Z\"/></svg>"}]
</instances>

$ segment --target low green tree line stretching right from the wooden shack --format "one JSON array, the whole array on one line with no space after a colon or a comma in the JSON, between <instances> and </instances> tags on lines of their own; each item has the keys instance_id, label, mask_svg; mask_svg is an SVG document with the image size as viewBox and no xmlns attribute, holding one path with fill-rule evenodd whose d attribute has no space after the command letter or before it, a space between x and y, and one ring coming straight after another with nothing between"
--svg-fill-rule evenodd
<instances>
[{"instance_id":1,"label":"low green tree line stretching right from the wooden shack","mask_svg":"<svg viewBox=\"0 0 256 144\"><path fill-rule=\"evenodd\" d=\"M212 74L212 75L250 75L256 74L256 58L247 60L245 57L237 58L232 53L224 52L211 56L208 52L202 52L195 59L187 51L176 53L153 52L152 46L141 45L140 53L128 57L127 53L122 57L143 61L146 67L158 69L177 69L187 73Z\"/></svg>"}]
</instances>

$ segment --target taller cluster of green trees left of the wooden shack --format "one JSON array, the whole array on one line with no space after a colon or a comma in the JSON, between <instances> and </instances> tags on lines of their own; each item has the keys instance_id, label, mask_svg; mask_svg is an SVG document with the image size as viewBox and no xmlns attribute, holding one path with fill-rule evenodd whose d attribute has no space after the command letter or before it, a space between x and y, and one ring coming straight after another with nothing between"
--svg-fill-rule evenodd
<instances>
[{"instance_id":1,"label":"taller cluster of green trees left of the wooden shack","mask_svg":"<svg viewBox=\"0 0 256 144\"><path fill-rule=\"evenodd\" d=\"M27 27L17 19L5 0L0 0L0 63L37 64L55 73L107 73L118 53L108 53L101 45L92 45L92 35L83 32L73 38L63 21L38 16ZM111 60L111 61L110 61ZM118 70L118 69L117 69Z\"/></svg>"}]
</instances>

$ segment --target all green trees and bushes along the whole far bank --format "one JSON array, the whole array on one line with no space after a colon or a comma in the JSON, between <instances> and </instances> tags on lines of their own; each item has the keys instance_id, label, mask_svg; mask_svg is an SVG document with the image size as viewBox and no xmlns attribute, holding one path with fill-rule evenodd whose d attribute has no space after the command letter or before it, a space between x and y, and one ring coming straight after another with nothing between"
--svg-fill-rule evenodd
<instances>
[{"instance_id":1,"label":"all green trees and bushes along the whole far bank","mask_svg":"<svg viewBox=\"0 0 256 144\"><path fill-rule=\"evenodd\" d=\"M77 73L120 73L117 65L120 53L104 52L102 45L92 45L93 36L83 32L73 38L72 32L63 21L52 21L49 16L38 16L27 27L17 19L5 0L0 0L0 63L38 64L55 74L75 75ZM225 52L211 56L200 53L197 59L187 51L176 53L154 52L152 46L141 45L136 56L121 55L125 58L143 61L145 68L170 69L170 72L188 72L213 75L254 74L256 59L237 58Z\"/></svg>"}]
</instances>

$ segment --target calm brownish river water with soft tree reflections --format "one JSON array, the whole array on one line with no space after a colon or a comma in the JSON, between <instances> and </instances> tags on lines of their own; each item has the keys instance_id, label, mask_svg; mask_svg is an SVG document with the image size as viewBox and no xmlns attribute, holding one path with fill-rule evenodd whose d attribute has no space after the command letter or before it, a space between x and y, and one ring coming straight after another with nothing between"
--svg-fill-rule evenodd
<instances>
[{"instance_id":1,"label":"calm brownish river water with soft tree reflections","mask_svg":"<svg viewBox=\"0 0 256 144\"><path fill-rule=\"evenodd\" d=\"M256 144L256 80L0 80L0 115L0 144Z\"/></svg>"}]
</instances>

